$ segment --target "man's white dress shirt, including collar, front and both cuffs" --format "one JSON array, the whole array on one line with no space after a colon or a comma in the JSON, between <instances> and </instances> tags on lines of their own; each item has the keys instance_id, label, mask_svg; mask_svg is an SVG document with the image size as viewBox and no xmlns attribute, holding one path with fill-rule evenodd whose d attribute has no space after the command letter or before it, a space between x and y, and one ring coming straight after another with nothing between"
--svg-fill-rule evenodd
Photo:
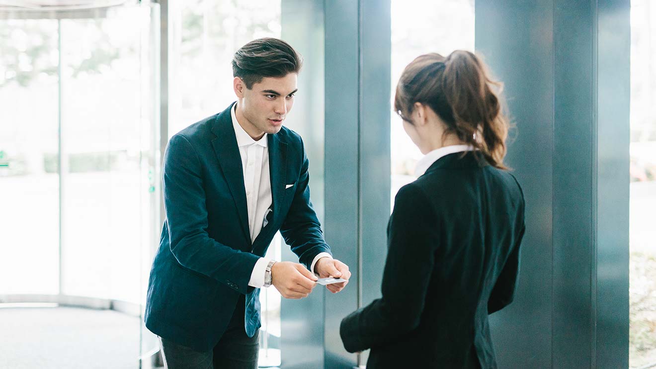
<instances>
[{"instance_id":1,"label":"man's white dress shirt, including collar, front and both cuffs","mask_svg":"<svg viewBox=\"0 0 656 369\"><path fill-rule=\"evenodd\" d=\"M230 115L232 116L232 127L237 137L237 146L239 146L239 155L241 156L241 169L244 174L244 189L246 190L246 204L248 208L248 224L251 234L251 243L255 241L264 222L264 214L272 204L271 196L271 175L269 172L269 150L267 134L258 141L255 141L239 125L235 110L237 104L232 106ZM329 253L319 253L312 261L311 270L314 272L314 265L321 257L331 257ZM255 263L251 280L248 285L255 288L264 286L264 272L270 259L260 257Z\"/></svg>"}]
</instances>

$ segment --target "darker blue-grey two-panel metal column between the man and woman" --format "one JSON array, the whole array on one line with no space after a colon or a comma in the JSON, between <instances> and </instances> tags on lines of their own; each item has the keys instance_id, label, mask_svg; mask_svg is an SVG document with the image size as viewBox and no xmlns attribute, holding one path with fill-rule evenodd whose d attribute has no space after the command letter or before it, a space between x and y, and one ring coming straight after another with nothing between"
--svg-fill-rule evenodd
<instances>
[{"instance_id":1,"label":"darker blue-grey two-panel metal column between the man and woman","mask_svg":"<svg viewBox=\"0 0 656 369\"><path fill-rule=\"evenodd\" d=\"M380 295L390 214L390 2L325 2L325 232L350 265L326 297L325 368L364 364L344 351L344 316Z\"/></svg>"}]
</instances>

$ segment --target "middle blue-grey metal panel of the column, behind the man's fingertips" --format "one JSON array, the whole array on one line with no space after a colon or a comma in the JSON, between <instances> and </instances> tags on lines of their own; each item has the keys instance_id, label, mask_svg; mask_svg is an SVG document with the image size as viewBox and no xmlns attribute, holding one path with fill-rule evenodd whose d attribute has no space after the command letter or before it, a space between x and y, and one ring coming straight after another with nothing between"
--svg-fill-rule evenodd
<instances>
[{"instance_id":1,"label":"middle blue-grey metal panel of the column, behind the man's fingertips","mask_svg":"<svg viewBox=\"0 0 656 369\"><path fill-rule=\"evenodd\" d=\"M342 318L358 307L359 257L359 2L325 2L325 236L350 266L350 285L325 299L325 368L349 368Z\"/></svg>"}]
</instances>

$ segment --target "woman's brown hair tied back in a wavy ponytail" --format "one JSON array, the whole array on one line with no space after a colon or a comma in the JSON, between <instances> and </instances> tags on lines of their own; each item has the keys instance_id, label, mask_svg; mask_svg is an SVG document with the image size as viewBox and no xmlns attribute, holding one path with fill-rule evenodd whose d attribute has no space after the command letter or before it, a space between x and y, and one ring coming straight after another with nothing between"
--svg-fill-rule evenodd
<instances>
[{"instance_id":1,"label":"woman's brown hair tied back in a wavy ponytail","mask_svg":"<svg viewBox=\"0 0 656 369\"><path fill-rule=\"evenodd\" d=\"M415 102L429 106L450 133L478 149L478 158L499 169L508 169L506 156L508 118L501 99L493 91L501 83L489 77L487 67L475 54L457 50L446 58L424 54L405 67L396 87L394 109L412 124Z\"/></svg>"}]
</instances>

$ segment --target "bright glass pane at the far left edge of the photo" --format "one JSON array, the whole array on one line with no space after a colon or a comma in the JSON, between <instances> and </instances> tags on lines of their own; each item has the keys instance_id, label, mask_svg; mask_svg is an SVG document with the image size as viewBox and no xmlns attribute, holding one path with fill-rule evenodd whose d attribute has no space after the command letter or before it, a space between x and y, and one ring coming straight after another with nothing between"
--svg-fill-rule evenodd
<instances>
[{"instance_id":1,"label":"bright glass pane at the far left edge of the photo","mask_svg":"<svg viewBox=\"0 0 656 369\"><path fill-rule=\"evenodd\" d=\"M57 71L57 20L0 20L0 295L59 293Z\"/></svg>"}]
</instances>

